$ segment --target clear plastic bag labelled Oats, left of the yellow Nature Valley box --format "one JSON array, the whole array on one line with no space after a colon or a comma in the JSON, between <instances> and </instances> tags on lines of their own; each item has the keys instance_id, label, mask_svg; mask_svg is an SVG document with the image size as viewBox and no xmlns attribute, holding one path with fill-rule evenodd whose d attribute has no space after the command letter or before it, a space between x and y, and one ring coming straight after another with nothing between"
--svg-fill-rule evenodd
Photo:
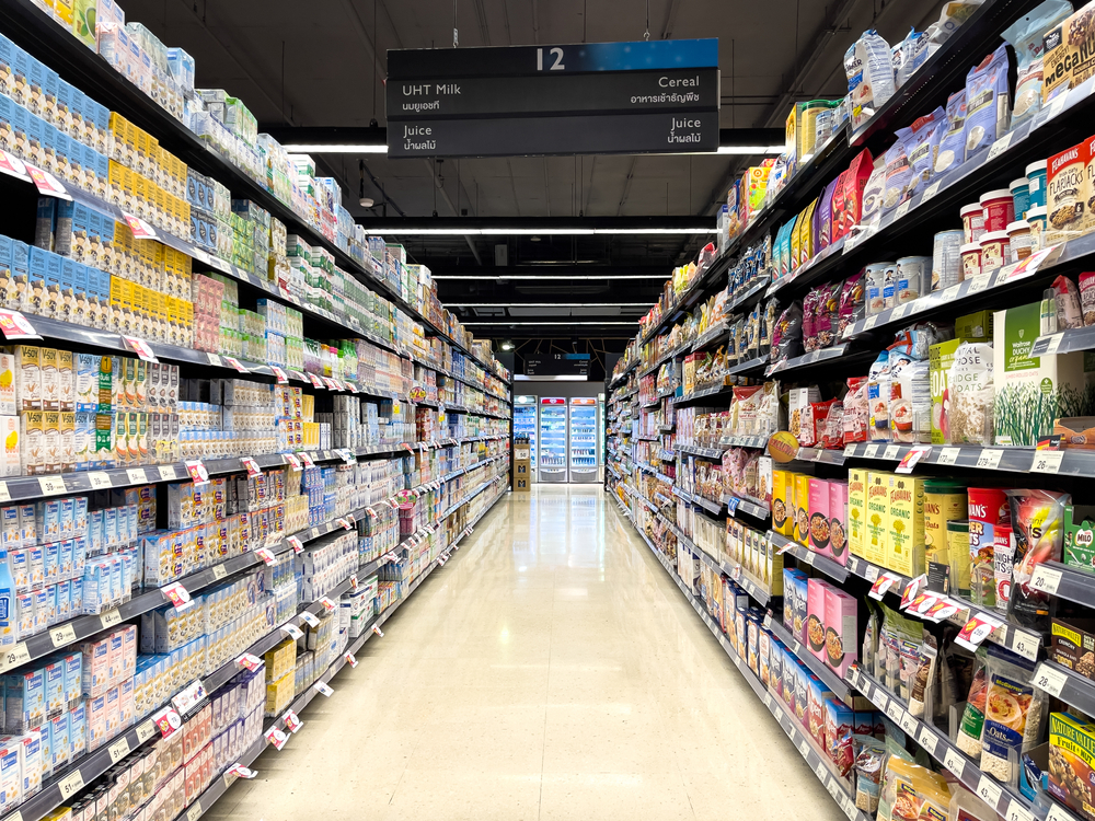
<instances>
[{"instance_id":1,"label":"clear plastic bag labelled Oats, left of the yellow Nature Valley box","mask_svg":"<svg viewBox=\"0 0 1095 821\"><path fill-rule=\"evenodd\" d=\"M1031 683L1034 662L989 646L981 771L1002 784L1018 783L1019 756L1038 743L1049 695Z\"/></svg>"}]
</instances>

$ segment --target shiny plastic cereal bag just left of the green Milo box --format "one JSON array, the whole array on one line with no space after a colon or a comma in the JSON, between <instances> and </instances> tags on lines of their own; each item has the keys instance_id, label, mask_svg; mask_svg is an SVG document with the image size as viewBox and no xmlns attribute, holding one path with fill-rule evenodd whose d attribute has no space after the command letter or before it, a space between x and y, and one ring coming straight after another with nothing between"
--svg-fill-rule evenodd
<instances>
[{"instance_id":1,"label":"shiny plastic cereal bag just left of the green Milo box","mask_svg":"<svg viewBox=\"0 0 1095 821\"><path fill-rule=\"evenodd\" d=\"M1030 587L1035 568L1044 562L1060 562L1064 539L1064 506L1069 494L1052 490L1005 490L1012 508L1012 589L1007 614L1012 621L1035 631L1049 629L1051 597Z\"/></svg>"}]
</instances>

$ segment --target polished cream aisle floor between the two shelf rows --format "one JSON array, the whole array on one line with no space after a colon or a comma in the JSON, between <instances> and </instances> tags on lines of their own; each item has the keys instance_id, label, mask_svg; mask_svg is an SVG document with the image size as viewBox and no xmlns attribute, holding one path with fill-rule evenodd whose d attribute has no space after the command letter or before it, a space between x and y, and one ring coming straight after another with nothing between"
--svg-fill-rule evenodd
<instances>
[{"instance_id":1,"label":"polished cream aisle floor between the two shelf rows","mask_svg":"<svg viewBox=\"0 0 1095 821\"><path fill-rule=\"evenodd\" d=\"M504 497L207 813L844 816L600 486Z\"/></svg>"}]
</instances>

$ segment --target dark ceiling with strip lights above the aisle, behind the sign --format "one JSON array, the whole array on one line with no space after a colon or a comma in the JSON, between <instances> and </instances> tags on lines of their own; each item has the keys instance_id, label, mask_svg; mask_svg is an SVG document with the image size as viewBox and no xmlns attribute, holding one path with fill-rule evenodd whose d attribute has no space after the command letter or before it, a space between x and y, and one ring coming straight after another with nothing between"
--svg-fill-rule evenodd
<instances>
[{"instance_id":1,"label":"dark ceiling with strip lights above the aisle, behind the sign","mask_svg":"<svg viewBox=\"0 0 1095 821\"><path fill-rule=\"evenodd\" d=\"M940 0L126 0L127 20L195 58L196 84L222 88L261 127L385 125L385 54L399 48L717 37L721 126L782 127L794 100L846 90L842 56L865 28L891 44L937 19ZM456 15L456 20L453 16ZM379 55L379 57L378 57ZM756 158L514 157L449 161L316 155L358 219L711 216ZM358 205L365 194L378 205ZM634 336L676 265L706 236L406 236L447 305L477 336ZM506 265L496 265L505 246ZM499 252L500 253L500 252ZM639 275L644 278L621 277ZM552 278L548 278L548 277ZM451 279L449 277L464 277ZM517 278L520 277L520 278ZM532 278L535 277L535 278ZM484 304L487 303L487 304ZM551 324L549 324L551 323ZM557 323L557 324L556 324ZM577 324L581 323L581 324ZM627 323L627 324L619 324Z\"/></svg>"}]
</instances>

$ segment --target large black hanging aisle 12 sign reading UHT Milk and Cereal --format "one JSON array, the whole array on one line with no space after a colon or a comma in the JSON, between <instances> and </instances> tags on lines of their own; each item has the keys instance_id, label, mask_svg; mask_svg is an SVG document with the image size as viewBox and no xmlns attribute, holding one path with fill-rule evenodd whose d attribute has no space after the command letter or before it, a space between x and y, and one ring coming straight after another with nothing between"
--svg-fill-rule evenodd
<instances>
[{"instance_id":1,"label":"large black hanging aisle 12 sign reading UHT Milk and Cereal","mask_svg":"<svg viewBox=\"0 0 1095 821\"><path fill-rule=\"evenodd\" d=\"M389 157L718 149L718 41L388 53Z\"/></svg>"}]
</instances>

